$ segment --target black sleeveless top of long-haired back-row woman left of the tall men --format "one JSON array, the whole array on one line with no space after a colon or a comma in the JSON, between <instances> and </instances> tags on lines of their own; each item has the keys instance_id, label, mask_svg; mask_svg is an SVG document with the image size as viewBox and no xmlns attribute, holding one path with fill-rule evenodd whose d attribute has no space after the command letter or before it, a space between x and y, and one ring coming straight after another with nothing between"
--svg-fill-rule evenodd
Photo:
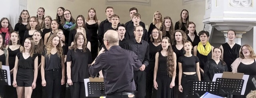
<instances>
[{"instance_id":1,"label":"black sleeveless top of long-haired back-row woman left of the tall men","mask_svg":"<svg viewBox=\"0 0 256 98\"><path fill-rule=\"evenodd\" d=\"M98 21L95 23L95 24L91 24L89 25L87 22L86 22L86 27L87 29L89 29L90 32L86 32L86 36L87 36L87 39L88 41L92 42L92 41L98 41Z\"/></svg>"}]
</instances>

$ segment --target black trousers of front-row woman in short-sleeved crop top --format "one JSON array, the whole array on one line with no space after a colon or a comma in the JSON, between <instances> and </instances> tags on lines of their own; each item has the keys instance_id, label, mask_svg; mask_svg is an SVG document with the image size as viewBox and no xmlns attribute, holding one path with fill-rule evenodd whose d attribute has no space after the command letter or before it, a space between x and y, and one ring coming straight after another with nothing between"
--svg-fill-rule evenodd
<instances>
[{"instance_id":1,"label":"black trousers of front-row woman in short-sleeved crop top","mask_svg":"<svg viewBox=\"0 0 256 98\"><path fill-rule=\"evenodd\" d=\"M181 85L182 85L183 91L180 93L179 98L188 98L188 93L189 93L188 81L189 80L198 80L197 74L195 73L192 75L187 75L187 74L182 73Z\"/></svg>"}]
</instances>

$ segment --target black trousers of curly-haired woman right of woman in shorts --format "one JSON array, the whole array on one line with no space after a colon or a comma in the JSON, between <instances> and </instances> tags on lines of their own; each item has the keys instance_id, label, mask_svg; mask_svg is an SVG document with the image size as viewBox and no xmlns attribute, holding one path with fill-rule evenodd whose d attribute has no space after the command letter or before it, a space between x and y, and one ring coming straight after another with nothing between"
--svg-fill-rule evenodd
<instances>
[{"instance_id":1,"label":"black trousers of curly-haired woman right of woman in shorts","mask_svg":"<svg viewBox=\"0 0 256 98\"><path fill-rule=\"evenodd\" d=\"M61 91L61 69L44 72L46 86L43 87L43 98L60 98Z\"/></svg>"}]
</instances>

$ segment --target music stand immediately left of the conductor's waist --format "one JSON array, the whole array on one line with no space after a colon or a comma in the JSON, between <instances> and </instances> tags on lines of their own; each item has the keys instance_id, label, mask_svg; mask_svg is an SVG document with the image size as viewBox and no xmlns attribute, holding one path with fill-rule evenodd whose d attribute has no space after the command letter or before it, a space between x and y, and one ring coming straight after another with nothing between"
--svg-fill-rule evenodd
<instances>
[{"instance_id":1,"label":"music stand immediately left of the conductor's waist","mask_svg":"<svg viewBox=\"0 0 256 98\"><path fill-rule=\"evenodd\" d=\"M106 96L104 82L87 82L88 97Z\"/></svg>"}]
</instances>

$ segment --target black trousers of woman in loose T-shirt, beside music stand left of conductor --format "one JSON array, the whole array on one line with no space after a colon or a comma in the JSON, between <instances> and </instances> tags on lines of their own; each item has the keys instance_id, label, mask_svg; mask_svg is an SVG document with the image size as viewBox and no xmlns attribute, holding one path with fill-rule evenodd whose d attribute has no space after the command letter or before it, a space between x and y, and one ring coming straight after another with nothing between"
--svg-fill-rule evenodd
<instances>
[{"instance_id":1,"label":"black trousers of woman in loose T-shirt, beside music stand left of conductor","mask_svg":"<svg viewBox=\"0 0 256 98\"><path fill-rule=\"evenodd\" d=\"M85 98L84 82L73 82L69 89L71 98Z\"/></svg>"}]
</instances>

